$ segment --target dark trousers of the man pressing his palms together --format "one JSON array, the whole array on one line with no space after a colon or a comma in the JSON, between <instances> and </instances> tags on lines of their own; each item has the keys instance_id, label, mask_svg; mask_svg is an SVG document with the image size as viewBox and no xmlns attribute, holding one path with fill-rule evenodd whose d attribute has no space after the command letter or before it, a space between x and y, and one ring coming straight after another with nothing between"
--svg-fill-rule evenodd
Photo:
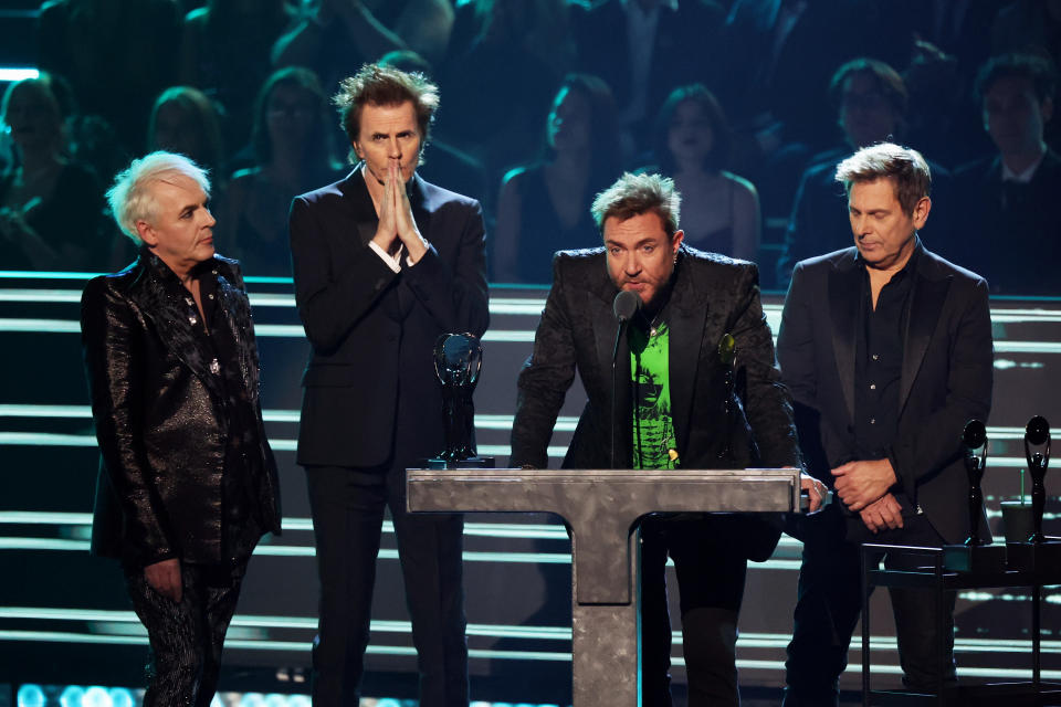
<instances>
[{"instance_id":1,"label":"dark trousers of the man pressing his palms together","mask_svg":"<svg viewBox=\"0 0 1061 707\"><path fill-rule=\"evenodd\" d=\"M403 467L307 466L306 478L321 579L315 707L357 705L360 697L385 507L395 524L412 619L420 705L466 707L463 516L407 513Z\"/></svg>"}]
</instances>

